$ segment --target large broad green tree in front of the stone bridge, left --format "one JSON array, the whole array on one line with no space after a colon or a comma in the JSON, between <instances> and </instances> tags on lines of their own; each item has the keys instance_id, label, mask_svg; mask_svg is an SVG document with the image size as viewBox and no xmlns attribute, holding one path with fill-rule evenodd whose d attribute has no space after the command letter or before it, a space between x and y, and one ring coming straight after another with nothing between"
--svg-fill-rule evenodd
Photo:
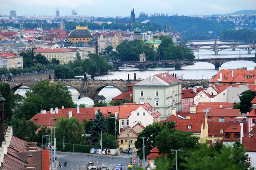
<instances>
[{"instance_id":1,"label":"large broad green tree in front of the stone bridge, left","mask_svg":"<svg viewBox=\"0 0 256 170\"><path fill-rule=\"evenodd\" d=\"M50 110L55 107L72 108L75 104L72 101L71 92L61 82L50 83L41 81L26 92L26 99L16 111L16 116L31 119L41 109Z\"/></svg>"}]
</instances>

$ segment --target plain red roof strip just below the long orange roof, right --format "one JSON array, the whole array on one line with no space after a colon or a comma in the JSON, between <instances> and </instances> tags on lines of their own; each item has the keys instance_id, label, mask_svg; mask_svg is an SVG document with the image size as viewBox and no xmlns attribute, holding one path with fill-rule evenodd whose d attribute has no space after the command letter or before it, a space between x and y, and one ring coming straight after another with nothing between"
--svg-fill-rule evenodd
<instances>
[{"instance_id":1,"label":"plain red roof strip just below the long orange roof, right","mask_svg":"<svg viewBox=\"0 0 256 170\"><path fill-rule=\"evenodd\" d=\"M237 116L241 116L241 112L240 112L240 109L210 109L209 113L207 113L207 116L237 117Z\"/></svg>"}]
</instances>

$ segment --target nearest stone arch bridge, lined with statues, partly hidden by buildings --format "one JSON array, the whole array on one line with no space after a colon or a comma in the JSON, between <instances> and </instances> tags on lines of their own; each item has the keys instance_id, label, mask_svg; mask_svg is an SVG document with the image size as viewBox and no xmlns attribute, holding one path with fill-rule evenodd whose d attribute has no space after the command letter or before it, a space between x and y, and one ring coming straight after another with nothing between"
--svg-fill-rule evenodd
<instances>
[{"instance_id":1,"label":"nearest stone arch bridge, lined with statues, partly hidden by buildings","mask_svg":"<svg viewBox=\"0 0 256 170\"><path fill-rule=\"evenodd\" d=\"M66 80L62 81L64 85L75 88L81 97L89 97L98 102L98 94L106 86L116 87L121 92L128 91L128 85L131 83L137 83L141 80ZM208 80L183 80L183 87L193 87L194 85L200 85L201 81L204 81L206 86L209 85ZM33 88L37 81L31 80L13 80L6 81L10 84L11 91L14 93L21 86L26 86L29 88ZM51 81L51 83L55 83L57 81Z\"/></svg>"}]
</instances>

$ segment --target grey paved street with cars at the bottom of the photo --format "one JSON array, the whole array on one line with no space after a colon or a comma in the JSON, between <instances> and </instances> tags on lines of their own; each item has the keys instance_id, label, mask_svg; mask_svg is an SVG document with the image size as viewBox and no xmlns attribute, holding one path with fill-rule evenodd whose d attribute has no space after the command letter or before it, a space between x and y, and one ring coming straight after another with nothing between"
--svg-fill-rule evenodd
<instances>
[{"instance_id":1,"label":"grey paved street with cars at the bottom of the photo","mask_svg":"<svg viewBox=\"0 0 256 170\"><path fill-rule=\"evenodd\" d=\"M130 162L128 154L121 154L120 156L102 155L101 159L100 154L57 152L57 158L62 167L56 168L56 170L86 170L88 160L95 160L98 165L101 165L102 162L107 163L109 164L109 170L111 170L111 167L114 167L116 164L122 164L123 169L128 170L127 166ZM64 161L67 161L67 167L64 167ZM136 157L136 165L138 165L138 157Z\"/></svg>"}]
</instances>

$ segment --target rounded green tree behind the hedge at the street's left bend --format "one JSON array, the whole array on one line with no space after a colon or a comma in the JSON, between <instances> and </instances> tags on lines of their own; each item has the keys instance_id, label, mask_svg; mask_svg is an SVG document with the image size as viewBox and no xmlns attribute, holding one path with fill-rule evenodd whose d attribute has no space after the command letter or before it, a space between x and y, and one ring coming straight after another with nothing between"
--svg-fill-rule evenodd
<instances>
[{"instance_id":1,"label":"rounded green tree behind the hedge at the street's left bend","mask_svg":"<svg viewBox=\"0 0 256 170\"><path fill-rule=\"evenodd\" d=\"M83 123L75 117L57 119L54 124L55 138L58 142L63 143L63 132L65 129L65 143L85 144L85 129ZM53 134L54 132L52 132Z\"/></svg>"}]
</instances>

